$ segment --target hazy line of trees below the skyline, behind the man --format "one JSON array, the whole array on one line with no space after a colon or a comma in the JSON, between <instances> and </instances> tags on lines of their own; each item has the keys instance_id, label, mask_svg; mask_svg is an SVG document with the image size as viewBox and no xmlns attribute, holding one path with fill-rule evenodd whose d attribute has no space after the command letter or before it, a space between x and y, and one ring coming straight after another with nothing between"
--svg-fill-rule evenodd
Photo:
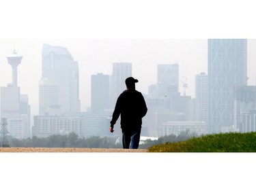
<instances>
[{"instance_id":1,"label":"hazy line of trees below the skyline, behind the man","mask_svg":"<svg viewBox=\"0 0 256 191\"><path fill-rule=\"evenodd\" d=\"M198 137L195 133L190 131L182 131L180 135L169 135L159 137L158 140L146 140L139 145L141 149L147 149L153 145L160 143L174 143L179 141L186 141L192 137ZM122 137L89 137L79 138L76 133L68 135L51 135L45 138L31 137L27 139L9 138L8 147L88 147L88 148L122 148Z\"/></svg>"}]
</instances>

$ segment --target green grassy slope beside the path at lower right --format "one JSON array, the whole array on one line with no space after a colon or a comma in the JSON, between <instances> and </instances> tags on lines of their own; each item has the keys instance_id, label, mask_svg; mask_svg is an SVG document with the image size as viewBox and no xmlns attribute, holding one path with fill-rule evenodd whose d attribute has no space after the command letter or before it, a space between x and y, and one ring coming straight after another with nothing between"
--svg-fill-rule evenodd
<instances>
[{"instance_id":1,"label":"green grassy slope beside the path at lower right","mask_svg":"<svg viewBox=\"0 0 256 191\"><path fill-rule=\"evenodd\" d=\"M150 152L256 152L256 132L205 135L177 143L162 143Z\"/></svg>"}]
</instances>

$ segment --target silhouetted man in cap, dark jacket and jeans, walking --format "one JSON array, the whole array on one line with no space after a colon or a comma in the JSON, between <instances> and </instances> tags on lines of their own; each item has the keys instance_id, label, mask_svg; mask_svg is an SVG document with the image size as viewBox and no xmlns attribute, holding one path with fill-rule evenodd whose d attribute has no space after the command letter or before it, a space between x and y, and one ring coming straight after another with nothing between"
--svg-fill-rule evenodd
<instances>
[{"instance_id":1,"label":"silhouetted man in cap, dark jacket and jeans, walking","mask_svg":"<svg viewBox=\"0 0 256 191\"><path fill-rule=\"evenodd\" d=\"M142 118L147 114L147 106L141 92L135 90L135 83L139 82L133 77L126 79L126 88L119 95L113 112L109 131L113 133L114 124L121 114L122 142L124 149L137 149L141 136Z\"/></svg>"}]
</instances>

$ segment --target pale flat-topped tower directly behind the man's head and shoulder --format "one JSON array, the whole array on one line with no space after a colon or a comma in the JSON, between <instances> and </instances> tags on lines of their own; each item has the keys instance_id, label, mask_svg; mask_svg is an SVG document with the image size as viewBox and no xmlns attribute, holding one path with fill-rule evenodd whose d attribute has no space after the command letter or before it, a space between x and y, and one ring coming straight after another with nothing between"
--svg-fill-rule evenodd
<instances>
[{"instance_id":1,"label":"pale flat-topped tower directly behind the man's head and shoulder","mask_svg":"<svg viewBox=\"0 0 256 191\"><path fill-rule=\"evenodd\" d=\"M119 94L126 90L126 78L132 76L132 63L113 63L112 74L112 107L115 107L115 103Z\"/></svg>"}]
</instances>

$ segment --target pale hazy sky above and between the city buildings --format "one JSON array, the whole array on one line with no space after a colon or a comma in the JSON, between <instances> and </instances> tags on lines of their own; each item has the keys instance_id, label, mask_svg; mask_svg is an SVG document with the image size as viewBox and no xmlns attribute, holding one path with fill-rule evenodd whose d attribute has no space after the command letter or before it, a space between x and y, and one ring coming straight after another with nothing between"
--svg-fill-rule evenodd
<instances>
[{"instance_id":1,"label":"pale hazy sky above and between the city buildings","mask_svg":"<svg viewBox=\"0 0 256 191\"><path fill-rule=\"evenodd\" d=\"M195 97L195 75L201 72L207 74L207 39L1 39L0 42L0 86L12 82L12 68L6 57L15 49L23 56L23 64L18 67L18 86L22 94L29 95L32 115L38 111L44 43L67 48L78 62L81 111L91 106L91 75L111 75L112 65L116 62L132 63L132 75L139 80L137 90L144 94L147 94L150 85L156 84L157 65L160 64L179 65L180 80L186 79L186 94L192 97ZM247 49L248 85L255 85L255 39L248 39ZM183 92L182 83L179 92Z\"/></svg>"}]
</instances>

